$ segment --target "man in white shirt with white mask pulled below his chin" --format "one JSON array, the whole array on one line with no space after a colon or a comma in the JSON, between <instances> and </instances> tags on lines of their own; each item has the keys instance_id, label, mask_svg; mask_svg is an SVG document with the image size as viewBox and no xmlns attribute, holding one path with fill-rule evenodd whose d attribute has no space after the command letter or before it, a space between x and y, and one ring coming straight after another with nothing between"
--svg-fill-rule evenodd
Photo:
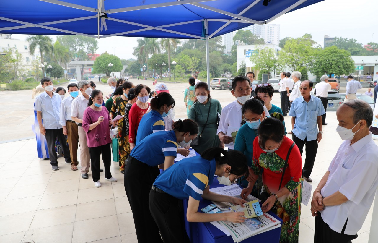
<instances>
[{"instance_id":1,"label":"man in white shirt with white mask pulled below his chin","mask_svg":"<svg viewBox=\"0 0 378 243\"><path fill-rule=\"evenodd\" d=\"M231 82L232 95L236 100L232 101L222 109L217 134L219 140L228 147L234 149L232 132L239 131L239 128L246 123L242 114L244 103L251 97L251 81L243 75L236 76ZM269 112L264 106L265 115L269 117Z\"/></svg>"}]
</instances>

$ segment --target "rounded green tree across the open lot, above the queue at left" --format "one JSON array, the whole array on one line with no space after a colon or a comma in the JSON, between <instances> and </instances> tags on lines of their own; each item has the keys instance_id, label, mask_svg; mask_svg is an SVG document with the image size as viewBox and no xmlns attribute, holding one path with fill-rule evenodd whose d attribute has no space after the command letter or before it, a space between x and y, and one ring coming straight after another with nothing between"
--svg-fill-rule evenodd
<instances>
[{"instance_id":1,"label":"rounded green tree across the open lot, above the queue at left","mask_svg":"<svg viewBox=\"0 0 378 243\"><path fill-rule=\"evenodd\" d=\"M109 67L109 63L113 64L113 67ZM93 73L105 73L110 76L111 72L121 72L123 66L118 56L107 53L106 51L96 58L93 64Z\"/></svg>"}]
</instances>

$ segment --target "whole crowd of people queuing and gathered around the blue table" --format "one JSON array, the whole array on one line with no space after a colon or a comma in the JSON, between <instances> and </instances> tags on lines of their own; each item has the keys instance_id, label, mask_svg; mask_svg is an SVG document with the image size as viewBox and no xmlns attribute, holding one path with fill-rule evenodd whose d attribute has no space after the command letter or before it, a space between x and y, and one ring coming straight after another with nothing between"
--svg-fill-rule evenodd
<instances>
[{"instance_id":1,"label":"whole crowd of people queuing and gathered around the blue table","mask_svg":"<svg viewBox=\"0 0 378 243\"><path fill-rule=\"evenodd\" d=\"M151 95L145 84L134 86L114 78L109 78L108 84L119 87L109 94L110 111L103 107L104 94L92 89L88 81L69 84L70 96L62 100L52 92L51 79L46 77L41 80L34 110L40 134L46 137L52 169L59 169L54 148L57 140L72 170L78 170L80 163L82 178L87 179L91 168L95 187L101 186L100 156L105 180L117 181L110 172L110 126L117 126L119 167L124 173L138 242L189 242L183 199L189 200L187 221L243 222L243 212L200 213L199 200L242 205L251 194L261 200L263 212L271 210L282 219L280 242L292 243L299 239L301 178L312 181L310 174L322 139L325 109L322 99L310 93L312 82L300 81L300 72L281 75L286 78L281 109L271 103L271 84L259 84L253 90L254 73L249 73L249 77L240 75L232 80L231 95L235 100L223 109L211 96L208 84L190 78L184 94L187 106L190 104L188 119L176 122L172 117L175 100L165 84L157 84ZM321 87L316 90L322 97ZM188 99L189 95L194 98ZM283 117L287 114L292 117L292 131L288 133L293 134L292 139L286 136ZM117 115L122 118L114 120ZM364 101L350 100L340 106L336 115L336 132L345 141L313 194L315 242L347 243L356 238L378 186L378 150L369 132L372 109ZM80 161L76 156L78 142ZM304 145L306 159L302 168ZM175 163L177 154L189 155L190 147L200 156ZM237 181L243 188L241 199L210 192L213 175L223 185ZM356 215L356 209L361 213Z\"/></svg>"}]
</instances>

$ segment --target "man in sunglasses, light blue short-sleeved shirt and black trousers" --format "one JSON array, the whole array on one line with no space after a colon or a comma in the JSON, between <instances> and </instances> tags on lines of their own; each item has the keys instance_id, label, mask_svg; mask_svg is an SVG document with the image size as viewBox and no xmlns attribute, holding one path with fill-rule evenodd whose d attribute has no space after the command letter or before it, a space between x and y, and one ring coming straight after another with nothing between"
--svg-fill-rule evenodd
<instances>
[{"instance_id":1,"label":"man in sunglasses, light blue short-sleeved shirt and black trousers","mask_svg":"<svg viewBox=\"0 0 378 243\"><path fill-rule=\"evenodd\" d=\"M299 87L301 97L293 101L289 112L294 127L293 141L298 146L301 155L303 146L306 144L306 159L302 177L308 182L312 182L310 175L314 167L318 143L322 139L322 115L325 114L322 101L318 97L310 95L312 86L311 81L302 81Z\"/></svg>"}]
</instances>

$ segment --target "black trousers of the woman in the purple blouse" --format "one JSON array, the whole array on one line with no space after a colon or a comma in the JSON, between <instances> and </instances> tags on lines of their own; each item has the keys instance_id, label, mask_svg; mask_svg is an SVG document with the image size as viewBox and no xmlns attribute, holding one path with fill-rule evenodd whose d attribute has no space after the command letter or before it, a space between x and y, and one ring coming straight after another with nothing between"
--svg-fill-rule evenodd
<instances>
[{"instance_id":1,"label":"black trousers of the woman in the purple blouse","mask_svg":"<svg viewBox=\"0 0 378 243\"><path fill-rule=\"evenodd\" d=\"M100 179L100 155L104 162L105 178L111 178L110 162L112 157L110 156L110 143L89 148L89 157L91 158L92 179L97 182Z\"/></svg>"}]
</instances>

